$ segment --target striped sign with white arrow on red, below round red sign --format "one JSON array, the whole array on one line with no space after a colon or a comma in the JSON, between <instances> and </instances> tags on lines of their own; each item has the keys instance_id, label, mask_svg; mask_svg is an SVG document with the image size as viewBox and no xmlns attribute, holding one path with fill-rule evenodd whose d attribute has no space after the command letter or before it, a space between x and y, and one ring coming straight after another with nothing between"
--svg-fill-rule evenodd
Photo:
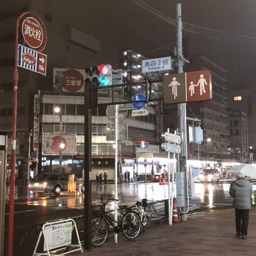
<instances>
[{"instance_id":1,"label":"striped sign with white arrow on red, below round red sign","mask_svg":"<svg viewBox=\"0 0 256 256\"><path fill-rule=\"evenodd\" d=\"M23 45L18 45L18 67L46 75L47 55Z\"/></svg>"}]
</instances>

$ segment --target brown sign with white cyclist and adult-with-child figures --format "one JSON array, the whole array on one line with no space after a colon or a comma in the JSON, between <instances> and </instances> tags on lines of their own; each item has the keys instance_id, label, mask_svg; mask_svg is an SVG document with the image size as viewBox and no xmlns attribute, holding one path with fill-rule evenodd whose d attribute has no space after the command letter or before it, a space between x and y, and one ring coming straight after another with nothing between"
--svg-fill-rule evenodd
<instances>
[{"instance_id":1,"label":"brown sign with white cyclist and adult-with-child figures","mask_svg":"<svg viewBox=\"0 0 256 256\"><path fill-rule=\"evenodd\" d=\"M173 104L211 99L212 83L209 70L164 76L164 103Z\"/></svg>"}]
</instances>

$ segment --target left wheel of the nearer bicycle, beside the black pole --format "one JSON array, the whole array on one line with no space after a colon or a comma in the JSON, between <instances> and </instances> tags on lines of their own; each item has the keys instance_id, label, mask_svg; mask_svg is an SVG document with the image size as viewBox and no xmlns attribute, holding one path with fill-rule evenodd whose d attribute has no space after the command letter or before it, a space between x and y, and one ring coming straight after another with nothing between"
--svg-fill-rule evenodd
<instances>
[{"instance_id":1,"label":"left wheel of the nearer bicycle, beside the black pole","mask_svg":"<svg viewBox=\"0 0 256 256\"><path fill-rule=\"evenodd\" d=\"M108 223L103 218L97 217L92 220L92 245L100 246L108 237Z\"/></svg>"}]
</instances>

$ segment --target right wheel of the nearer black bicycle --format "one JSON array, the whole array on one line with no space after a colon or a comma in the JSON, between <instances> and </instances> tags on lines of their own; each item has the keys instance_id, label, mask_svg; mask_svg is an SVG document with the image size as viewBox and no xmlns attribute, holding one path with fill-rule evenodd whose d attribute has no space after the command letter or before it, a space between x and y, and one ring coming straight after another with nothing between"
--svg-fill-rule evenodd
<instances>
[{"instance_id":1,"label":"right wheel of the nearer black bicycle","mask_svg":"<svg viewBox=\"0 0 256 256\"><path fill-rule=\"evenodd\" d=\"M128 212L122 219L122 232L128 239L134 239L140 234L142 224L136 212Z\"/></svg>"}]
</instances>

